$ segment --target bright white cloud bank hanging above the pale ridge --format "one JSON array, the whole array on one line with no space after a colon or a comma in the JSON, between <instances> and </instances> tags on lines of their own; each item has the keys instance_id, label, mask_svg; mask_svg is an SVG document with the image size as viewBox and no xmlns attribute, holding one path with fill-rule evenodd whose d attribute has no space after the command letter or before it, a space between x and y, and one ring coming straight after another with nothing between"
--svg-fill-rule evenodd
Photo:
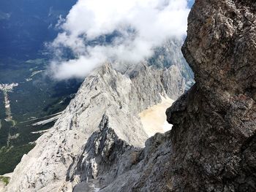
<instances>
[{"instance_id":1,"label":"bright white cloud bank hanging above the pale ridge","mask_svg":"<svg viewBox=\"0 0 256 192\"><path fill-rule=\"evenodd\" d=\"M59 58L51 74L84 78L105 61L143 61L166 39L187 34L188 14L187 0L78 0L50 44ZM64 50L73 58L61 61Z\"/></svg>"}]
</instances>

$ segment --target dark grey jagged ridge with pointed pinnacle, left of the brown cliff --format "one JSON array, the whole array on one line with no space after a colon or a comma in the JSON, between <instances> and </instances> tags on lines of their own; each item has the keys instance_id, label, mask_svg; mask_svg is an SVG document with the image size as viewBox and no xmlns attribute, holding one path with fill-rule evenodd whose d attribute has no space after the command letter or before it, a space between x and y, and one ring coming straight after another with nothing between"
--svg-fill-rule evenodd
<instances>
[{"instance_id":1,"label":"dark grey jagged ridge with pointed pinnacle, left of the brown cliff","mask_svg":"<svg viewBox=\"0 0 256 192\"><path fill-rule=\"evenodd\" d=\"M104 116L99 131L86 143L87 150L71 166L74 174L67 180L78 183L74 192L167 191L166 167L170 166L171 154L168 135L154 135L143 149L133 147L118 139Z\"/></svg>"}]
</instances>

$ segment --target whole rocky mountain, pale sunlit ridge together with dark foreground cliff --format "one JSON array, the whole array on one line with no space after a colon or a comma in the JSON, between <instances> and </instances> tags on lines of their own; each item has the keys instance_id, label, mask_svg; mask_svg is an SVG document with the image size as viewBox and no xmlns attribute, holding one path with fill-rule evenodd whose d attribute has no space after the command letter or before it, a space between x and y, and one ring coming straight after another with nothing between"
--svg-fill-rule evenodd
<instances>
[{"instance_id":1,"label":"whole rocky mountain, pale sunlit ridge together with dark foreground cliff","mask_svg":"<svg viewBox=\"0 0 256 192\"><path fill-rule=\"evenodd\" d=\"M94 70L4 190L255 191L255 17L249 0L195 1L187 92L187 68L151 65L166 61L157 55ZM166 111L173 128L148 139L139 114L177 98Z\"/></svg>"}]
</instances>

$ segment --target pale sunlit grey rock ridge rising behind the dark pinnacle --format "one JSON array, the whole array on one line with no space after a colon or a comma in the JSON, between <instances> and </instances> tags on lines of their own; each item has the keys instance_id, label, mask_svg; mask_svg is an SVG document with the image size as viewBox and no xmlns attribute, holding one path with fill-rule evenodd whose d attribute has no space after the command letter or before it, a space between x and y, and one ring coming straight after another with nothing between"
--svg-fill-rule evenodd
<instances>
[{"instance_id":1,"label":"pale sunlit grey rock ridge rising behind the dark pinnacle","mask_svg":"<svg viewBox=\"0 0 256 192\"><path fill-rule=\"evenodd\" d=\"M108 169L108 164L101 164L99 162L102 161L98 160L91 161L91 166L83 169L85 173L77 169L78 166L83 167L79 157L92 153L88 148L91 144L86 143L96 135L94 145L99 145L99 151L104 151L103 156L108 158L112 152L110 149L120 148L113 148L118 139L127 147L143 147L148 135L138 114L159 103L161 96L178 97L184 91L184 82L178 69L155 69L147 64L139 64L123 74L110 64L95 70L86 77L55 126L37 140L36 147L28 155L23 156L12 174L7 191L72 191L77 181L101 174L102 170ZM99 130L105 116L108 117L109 128ZM109 138L102 138L104 135ZM108 147L101 148L102 145ZM99 155L97 152L92 154L95 158ZM102 166L92 169L97 163Z\"/></svg>"}]
</instances>

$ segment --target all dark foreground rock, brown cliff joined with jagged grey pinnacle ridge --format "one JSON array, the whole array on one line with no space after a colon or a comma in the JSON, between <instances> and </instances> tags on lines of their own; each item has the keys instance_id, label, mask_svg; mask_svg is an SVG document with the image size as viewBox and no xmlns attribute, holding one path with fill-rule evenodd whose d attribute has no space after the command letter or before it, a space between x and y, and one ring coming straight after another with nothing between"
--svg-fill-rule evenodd
<instances>
[{"instance_id":1,"label":"all dark foreground rock, brown cliff joined with jagged grey pinnacle ridge","mask_svg":"<svg viewBox=\"0 0 256 192\"><path fill-rule=\"evenodd\" d=\"M103 118L69 169L73 191L255 191L255 10L195 1L182 50L196 83L167 110L172 130L138 149Z\"/></svg>"}]
</instances>

